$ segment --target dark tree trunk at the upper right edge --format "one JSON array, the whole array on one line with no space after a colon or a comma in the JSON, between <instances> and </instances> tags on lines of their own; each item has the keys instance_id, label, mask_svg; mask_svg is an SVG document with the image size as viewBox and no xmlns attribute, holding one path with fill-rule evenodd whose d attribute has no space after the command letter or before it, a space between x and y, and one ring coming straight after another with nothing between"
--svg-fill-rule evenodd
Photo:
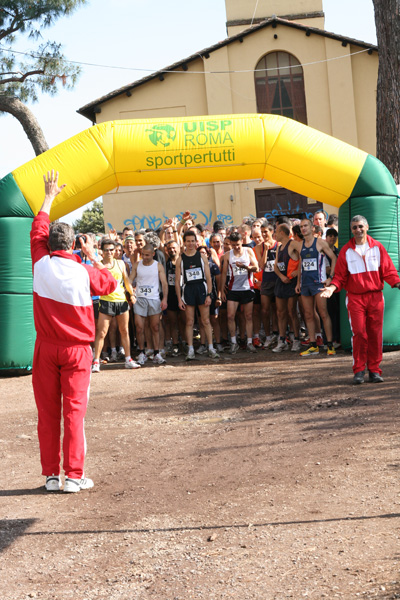
<instances>
[{"instance_id":1,"label":"dark tree trunk at the upper right edge","mask_svg":"<svg viewBox=\"0 0 400 600\"><path fill-rule=\"evenodd\" d=\"M400 183L400 0L373 0L379 47L377 157Z\"/></svg>"}]
</instances>

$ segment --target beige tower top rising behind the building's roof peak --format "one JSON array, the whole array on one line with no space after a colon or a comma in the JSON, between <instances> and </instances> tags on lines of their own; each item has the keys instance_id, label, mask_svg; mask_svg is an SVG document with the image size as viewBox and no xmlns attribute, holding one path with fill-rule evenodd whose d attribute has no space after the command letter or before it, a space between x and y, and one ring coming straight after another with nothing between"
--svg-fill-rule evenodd
<instances>
[{"instance_id":1,"label":"beige tower top rising behind the building's roof peak","mask_svg":"<svg viewBox=\"0 0 400 600\"><path fill-rule=\"evenodd\" d=\"M302 25L324 29L322 0L225 0L229 36L275 15Z\"/></svg>"}]
</instances>

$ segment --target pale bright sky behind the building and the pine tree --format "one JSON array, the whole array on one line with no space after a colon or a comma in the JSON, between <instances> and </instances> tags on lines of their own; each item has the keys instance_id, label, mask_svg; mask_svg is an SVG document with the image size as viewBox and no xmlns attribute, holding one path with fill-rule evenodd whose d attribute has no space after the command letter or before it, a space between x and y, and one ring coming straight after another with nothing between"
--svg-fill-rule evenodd
<instances>
[{"instance_id":1,"label":"pale bright sky behind the building and the pine tree","mask_svg":"<svg viewBox=\"0 0 400 600\"><path fill-rule=\"evenodd\" d=\"M243 0L254 3L257 0ZM70 17L43 31L62 45L68 60L82 65L73 90L42 95L28 105L49 147L91 126L77 110L96 98L141 79L227 37L224 0L89 0ZM372 0L323 0L325 29L376 44ZM20 39L18 50L34 47ZM19 122L0 117L0 179L34 158ZM85 207L64 217L72 223Z\"/></svg>"}]
</instances>

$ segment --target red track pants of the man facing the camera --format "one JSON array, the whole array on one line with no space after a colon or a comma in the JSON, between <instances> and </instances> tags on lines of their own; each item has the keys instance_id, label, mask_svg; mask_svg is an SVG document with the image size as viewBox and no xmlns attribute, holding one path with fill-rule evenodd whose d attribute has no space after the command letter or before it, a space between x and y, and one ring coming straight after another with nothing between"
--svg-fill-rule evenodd
<instances>
[{"instance_id":1,"label":"red track pants of the man facing the camera","mask_svg":"<svg viewBox=\"0 0 400 600\"><path fill-rule=\"evenodd\" d=\"M353 333L353 372L382 373L382 329L385 302L382 292L347 294L346 305Z\"/></svg>"}]
</instances>

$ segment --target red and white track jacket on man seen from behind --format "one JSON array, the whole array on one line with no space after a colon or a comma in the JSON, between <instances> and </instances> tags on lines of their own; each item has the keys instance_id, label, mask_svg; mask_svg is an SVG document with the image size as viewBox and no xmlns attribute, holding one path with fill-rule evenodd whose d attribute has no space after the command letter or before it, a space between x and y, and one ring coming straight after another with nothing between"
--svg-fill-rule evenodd
<instances>
[{"instance_id":1,"label":"red and white track jacket on man seen from behind","mask_svg":"<svg viewBox=\"0 0 400 600\"><path fill-rule=\"evenodd\" d=\"M62 346L94 340L92 296L111 294L108 269L82 264L76 254L49 251L49 216L39 212L31 229L33 315L37 339Z\"/></svg>"}]
</instances>

